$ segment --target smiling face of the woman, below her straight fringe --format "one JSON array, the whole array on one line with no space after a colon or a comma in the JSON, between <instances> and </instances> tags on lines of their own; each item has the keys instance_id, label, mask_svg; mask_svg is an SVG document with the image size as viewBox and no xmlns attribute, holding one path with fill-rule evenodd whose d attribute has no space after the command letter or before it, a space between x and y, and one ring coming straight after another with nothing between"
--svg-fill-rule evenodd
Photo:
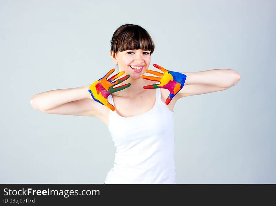
<instances>
[{"instance_id":1,"label":"smiling face of the woman, below her straight fringe","mask_svg":"<svg viewBox=\"0 0 276 206\"><path fill-rule=\"evenodd\" d=\"M125 71L125 75L130 74L133 79L141 78L151 63L151 54L149 50L134 49L111 51L112 60L118 64L119 71Z\"/></svg>"}]
</instances>

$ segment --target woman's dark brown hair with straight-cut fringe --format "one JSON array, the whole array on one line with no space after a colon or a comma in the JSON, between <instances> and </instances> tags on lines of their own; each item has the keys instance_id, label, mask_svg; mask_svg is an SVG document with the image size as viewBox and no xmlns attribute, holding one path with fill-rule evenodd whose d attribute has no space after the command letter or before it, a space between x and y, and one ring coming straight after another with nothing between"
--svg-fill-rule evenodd
<instances>
[{"instance_id":1,"label":"woman's dark brown hair with straight-cut fringe","mask_svg":"<svg viewBox=\"0 0 276 206\"><path fill-rule=\"evenodd\" d=\"M111 38L110 51L125 51L125 50L150 50L154 51L154 42L146 29L135 24L124 24L114 32Z\"/></svg>"}]
</instances>

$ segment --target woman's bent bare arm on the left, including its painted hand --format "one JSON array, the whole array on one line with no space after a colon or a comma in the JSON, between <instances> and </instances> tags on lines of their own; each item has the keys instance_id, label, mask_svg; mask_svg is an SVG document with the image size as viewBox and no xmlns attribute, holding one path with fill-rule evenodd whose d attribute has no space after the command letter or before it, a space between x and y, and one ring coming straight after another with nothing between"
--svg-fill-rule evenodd
<instances>
[{"instance_id":1,"label":"woman's bent bare arm on the left, including its painted hand","mask_svg":"<svg viewBox=\"0 0 276 206\"><path fill-rule=\"evenodd\" d=\"M114 87L130 77L130 75L126 75L116 80L125 73L125 71L121 71L109 78L114 71L114 68L111 69L104 77L91 85L36 94L30 100L30 104L34 109L50 114L99 117L105 106L112 111L115 110L114 106L108 102L108 96L130 86L128 83Z\"/></svg>"}]
</instances>

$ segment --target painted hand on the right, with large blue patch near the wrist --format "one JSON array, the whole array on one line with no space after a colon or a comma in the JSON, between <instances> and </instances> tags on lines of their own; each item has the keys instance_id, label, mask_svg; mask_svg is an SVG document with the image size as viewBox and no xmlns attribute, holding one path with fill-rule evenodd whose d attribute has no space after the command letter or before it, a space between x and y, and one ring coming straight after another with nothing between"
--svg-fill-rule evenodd
<instances>
[{"instance_id":1,"label":"painted hand on the right, with large blue patch near the wrist","mask_svg":"<svg viewBox=\"0 0 276 206\"><path fill-rule=\"evenodd\" d=\"M163 71L164 74L158 71L152 71L152 70L146 69L145 72L157 75L159 77L150 77L150 76L142 75L141 78L157 81L157 82L160 82L160 84L147 85L147 86L144 86L143 88L144 89L157 89L157 88L168 89L170 91L170 95L166 99L166 104L168 105L171 102L172 98L177 94L177 92L179 92L184 86L187 76L180 72L168 71L167 69L164 69L162 66L159 66L157 64L153 64L153 66Z\"/></svg>"}]
</instances>

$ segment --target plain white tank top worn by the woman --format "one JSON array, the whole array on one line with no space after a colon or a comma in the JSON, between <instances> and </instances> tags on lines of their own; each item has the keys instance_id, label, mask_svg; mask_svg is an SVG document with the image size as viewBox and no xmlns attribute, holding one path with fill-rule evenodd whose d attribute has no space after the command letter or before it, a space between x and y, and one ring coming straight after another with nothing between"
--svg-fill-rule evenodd
<instances>
[{"instance_id":1,"label":"plain white tank top worn by the woman","mask_svg":"<svg viewBox=\"0 0 276 206\"><path fill-rule=\"evenodd\" d=\"M109 109L116 153L105 184L176 184L173 112L162 102L161 89L155 90L155 104L144 114L122 117ZM112 95L108 101L114 105Z\"/></svg>"}]
</instances>

